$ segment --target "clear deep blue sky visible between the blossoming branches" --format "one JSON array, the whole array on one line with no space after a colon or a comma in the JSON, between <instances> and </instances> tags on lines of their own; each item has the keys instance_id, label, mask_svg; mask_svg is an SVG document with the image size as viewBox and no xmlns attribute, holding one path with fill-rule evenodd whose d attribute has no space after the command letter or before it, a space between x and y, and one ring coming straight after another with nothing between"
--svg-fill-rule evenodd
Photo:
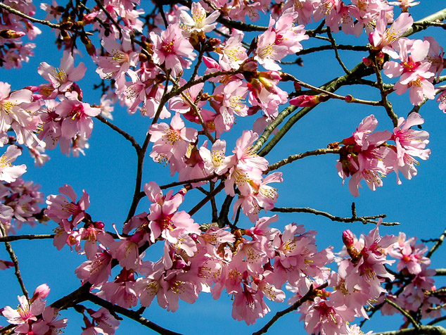
<instances>
[{"instance_id":1,"label":"clear deep blue sky visible between the blossoming branches","mask_svg":"<svg viewBox=\"0 0 446 335\"><path fill-rule=\"evenodd\" d=\"M429 6L427 6L428 4ZM440 1L423 1L420 6L412 8L411 13L415 20L442 9ZM399 13L397 10L396 13ZM42 11L37 12L37 17L43 17ZM267 24L262 20L260 24ZM0 69L0 80L11 84L12 89L21 89L27 85L37 85L44 82L37 74L37 67L40 62L46 61L57 66L60 62L62 52L56 50L53 45L53 32L42 28L44 33L37 37L34 43L37 44L35 56L30 63L23 63L20 70ZM432 35L438 40L440 45L446 46L446 37L442 30L430 28L425 32L415 35L417 38ZM356 45L367 44L367 37L362 34L358 39L354 37L344 37L336 34L335 38L343 43ZM316 42L317 44L317 42ZM315 42L304 41L304 47L314 46ZM79 86L84 90L84 101L98 103L100 94L91 89L92 84L97 83L99 78L96 75L94 64L89 61L87 53L83 58L76 58L76 63L83 61L87 65L87 75L79 82ZM363 56L361 52L340 51L340 56L345 61L348 68L352 68ZM324 84L333 77L343 75L343 70L333 57L333 51L322 51L319 53L302 56L303 67L291 69L290 72L304 82L315 86ZM202 68L204 70L204 68ZM288 68L284 68L288 70ZM388 78L385 82L391 82ZM377 91L368 89L357 89L357 87L344 87L338 94L352 94L362 99L378 100ZM412 109L409 103L408 94L396 96L392 94L390 100L395 108L395 113L399 116L407 116ZM276 146L266 158L269 163L285 158L294 153L301 153L316 148L325 148L333 141L340 141L349 137L355 130L362 118L374 114L378 119L378 128L392 130L392 123L383 108L373 108L356 104L346 104L342 101L329 101L314 108L291 132L286 134L279 146ZM142 118L140 115L128 115L120 106L115 106L113 113L116 125L125 129L129 134L134 135L141 144L144 140L148 125L151 120ZM355 201L358 215L376 215L385 213L386 220L401 222L400 227L382 227L382 234L398 234L400 231L406 232L408 236L419 236L419 239L430 239L439 236L446 228L445 217L445 190L446 180L446 158L445 158L445 138L446 115L438 109L438 103L429 101L421 108L421 116L425 123L423 129L431 134L431 157L427 161L420 161L417 167L418 175L412 180L402 179L402 185L396 184L395 174L390 174L384 179L384 186L377 191L370 191L364 185L359 189L360 196L353 197L348 185L341 185L335 164L336 156L326 155L305 158L298 160L291 165L281 168L284 182L276 186L279 189L278 207L310 207L317 210L324 210L333 215L350 216L350 206ZM225 137L228 141L228 148L232 148L236 139L243 129L249 129L254 121L253 118L238 120L239 122L231 132L230 137ZM25 163L28 172L23 175L23 179L32 180L42 185L41 191L45 196L58 194L58 188L63 184L70 184L77 194L82 194L85 189L90 194L91 206L88 213L94 220L101 220L106 223L106 228L111 231L112 224L122 227L127 217L127 211L132 200L134 191L134 178L136 172L136 154L134 148L113 132L110 128L95 120L94 130L89 140L90 148L86 151L86 156L79 158L68 158L60 154L59 148L49 151L51 160L42 168L34 168L32 160L27 157L27 153L20 156L16 163ZM149 148L150 150L150 148ZM168 167L163 167L153 163L151 158L147 158L144 165L143 183L155 181L164 184L175 181L170 178ZM198 202L201 195L197 191L192 191L186 196L186 201L180 209L187 210ZM219 201L221 201L221 197ZM148 201L143 199L137 213L148 210ZM210 222L209 208L203 208L194 216L198 223ZM276 226L282 229L290 222L297 222L305 225L307 229L316 229L317 245L319 248L333 245L335 251L339 251L342 246L341 234L345 229L351 229L359 236L362 232L369 232L371 225L364 227L361 223L342 224L331 222L324 217L316 217L310 214L281 214ZM247 218L242 218L241 227L250 227ZM34 229L25 227L19 234L46 234L56 227L53 222L48 222L46 226L39 225ZM65 246L62 251L57 252L51 240L42 241L15 241L12 244L15 253L20 260L20 270L23 274L25 285L29 291L33 291L36 286L47 283L51 288L48 302L51 303L61 296L77 289L79 280L75 276L74 270L82 262L84 256L70 252ZM432 246L432 244L428 244ZM444 253L442 247L433 256L432 267L445 267ZM146 252L146 259L158 260L159 250L153 248ZM0 259L8 259L6 251L2 248ZM13 270L0 272L0 281L4 284L1 293L1 307L4 305L17 305L16 296L21 295L20 287L13 277ZM438 286L444 285L444 281L438 280ZM177 312L166 312L159 308L154 302L144 313L144 317L162 327L179 331L184 334L249 334L257 331L265 324L273 313L283 310L285 304L267 303L272 313L263 320L258 320L253 327L246 327L244 322L237 322L231 317L231 299L225 294L219 301L213 301L210 295L202 293L198 301L189 305L180 302ZM86 303L92 307L93 305ZM74 310L63 312L63 316L68 317L68 327L66 334L79 334L79 324L82 324L82 317ZM284 329L294 334L303 332L302 322L298 322L299 315L287 315L276 322L270 329L269 334L283 334ZM375 318L374 318L375 319ZM376 317L366 323L364 331L373 329L374 331L384 331L397 329L402 321L399 315L395 317ZM6 325L4 319L0 320L1 325ZM284 328L286 327L286 328ZM142 334L147 329L139 326L131 320L123 320L120 329L116 334ZM148 331L150 333L150 331Z\"/></svg>"}]
</instances>

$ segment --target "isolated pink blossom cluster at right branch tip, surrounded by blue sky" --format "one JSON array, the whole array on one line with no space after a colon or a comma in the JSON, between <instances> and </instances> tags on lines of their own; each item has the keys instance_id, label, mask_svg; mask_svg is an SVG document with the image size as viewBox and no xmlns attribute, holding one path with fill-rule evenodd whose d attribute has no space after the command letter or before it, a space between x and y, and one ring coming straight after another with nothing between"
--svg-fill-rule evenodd
<instances>
[{"instance_id":1,"label":"isolated pink blossom cluster at right branch tip, surrounded by blue sky","mask_svg":"<svg viewBox=\"0 0 446 335\"><path fill-rule=\"evenodd\" d=\"M340 159L336 169L343 182L351 177L348 182L351 194L359 196L362 179L372 190L382 187L382 176L390 172L396 173L398 184L401 184L399 172L406 179L412 179L417 173L415 165L419 164L414 157L426 160L431 154L431 150L426 149L429 143L428 132L411 129L423 122L419 113L412 113L407 120L398 119L398 125L392 133L387 130L375 132L378 120L370 115L362 120L351 137L331 144L343 144L340 146ZM388 141L394 141L395 144L389 144Z\"/></svg>"}]
</instances>

